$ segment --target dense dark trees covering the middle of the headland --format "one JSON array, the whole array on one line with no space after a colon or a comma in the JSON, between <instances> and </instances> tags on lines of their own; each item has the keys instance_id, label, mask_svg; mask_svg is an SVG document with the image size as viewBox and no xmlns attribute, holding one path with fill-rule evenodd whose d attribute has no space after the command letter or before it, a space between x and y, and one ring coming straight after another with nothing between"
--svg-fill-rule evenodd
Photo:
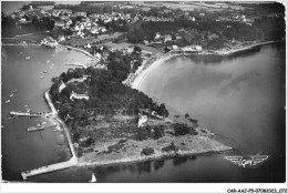
<instances>
[{"instance_id":1,"label":"dense dark trees covering the middle of the headland","mask_svg":"<svg viewBox=\"0 0 288 194\"><path fill-rule=\"evenodd\" d=\"M66 116L74 119L78 124L86 125L90 116L111 116L121 112L125 115L135 115L140 110L148 112L156 111L162 116L168 116L168 111L164 104L158 105L143 92L131 89L122 81L131 70L131 61L138 53L121 54L120 51L111 52L107 58L107 70L94 69L70 69L59 78L52 79L50 95L55 108L59 110L61 119ZM88 75L84 82L72 82L72 79ZM61 82L68 83L66 88L59 92ZM70 100L71 92L88 93L90 99Z\"/></svg>"}]
</instances>

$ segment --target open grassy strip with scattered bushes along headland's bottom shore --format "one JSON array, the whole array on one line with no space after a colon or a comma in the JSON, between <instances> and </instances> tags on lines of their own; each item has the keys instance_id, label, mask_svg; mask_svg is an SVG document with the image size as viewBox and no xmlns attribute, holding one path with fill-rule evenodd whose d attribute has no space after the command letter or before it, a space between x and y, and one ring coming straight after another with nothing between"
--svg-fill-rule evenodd
<instances>
[{"instance_id":1,"label":"open grassy strip with scattered bushes along headland's bottom shore","mask_svg":"<svg viewBox=\"0 0 288 194\"><path fill-rule=\"evenodd\" d=\"M168 146L171 142L174 142L177 151L164 152L162 149ZM102 144L97 149L105 151L107 146L111 145L111 143L112 142L107 142L106 145ZM84 153L83 156L79 157L76 166L103 166L125 163L140 163L161 159L186 157L233 151L233 147L226 146L216 140L213 140L210 135L205 135L203 133L198 135L187 134L183 136L165 135L158 140L128 140L122 145L123 147L121 150L109 154L102 154L99 152ZM148 146L153 147L155 153L152 155L142 155L142 150Z\"/></svg>"}]
</instances>

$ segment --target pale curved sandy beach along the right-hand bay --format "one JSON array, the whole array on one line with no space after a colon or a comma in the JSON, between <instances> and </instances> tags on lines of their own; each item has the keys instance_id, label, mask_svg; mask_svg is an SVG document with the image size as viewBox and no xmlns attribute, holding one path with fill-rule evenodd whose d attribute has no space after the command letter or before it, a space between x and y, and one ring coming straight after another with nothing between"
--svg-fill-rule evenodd
<instances>
[{"instance_id":1,"label":"pale curved sandy beach along the right-hand bay","mask_svg":"<svg viewBox=\"0 0 288 194\"><path fill-rule=\"evenodd\" d=\"M157 65L160 65L164 61L169 60L169 59L172 59L174 57L194 55L194 54L197 54L197 55L212 55L212 54L216 54L216 55L230 55L230 54L234 54L234 53L237 53L237 52L240 52L240 51L253 49L255 47L266 45L266 44L276 43L276 42L280 42L280 41L258 42L258 43L254 43L254 44L250 44L250 45L246 45L246 47L240 48L240 49L233 49L233 50L228 50L228 51L216 50L216 51L213 51L213 53L209 53L208 51L205 51L205 50L204 51L198 51L198 53L189 53L189 52L186 52L186 51L176 51L176 52L168 53L168 55L165 55L165 53L157 53L157 54L161 54L161 57L158 57L151 64L147 64L146 61L143 62L143 64L140 67L141 69L138 69L140 71L137 70L132 75L128 75L128 78L127 78L127 80L125 80L125 82L132 89L136 89L136 90L140 91L143 81L150 74L150 72L152 72Z\"/></svg>"}]
</instances>

